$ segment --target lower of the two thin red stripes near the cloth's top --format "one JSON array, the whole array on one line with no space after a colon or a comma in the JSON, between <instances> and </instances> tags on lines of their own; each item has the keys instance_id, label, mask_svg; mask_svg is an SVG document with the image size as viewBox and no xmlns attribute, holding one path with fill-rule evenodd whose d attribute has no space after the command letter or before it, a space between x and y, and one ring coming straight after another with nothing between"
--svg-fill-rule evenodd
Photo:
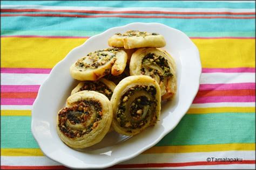
<instances>
[{"instance_id":1,"label":"lower of the two thin red stripes near the cloth's top","mask_svg":"<svg viewBox=\"0 0 256 170\"><path fill-rule=\"evenodd\" d=\"M21 14L1 14L2 17L76 17L76 18L100 18L100 17L120 17L120 18L180 18L180 19L211 19L211 18L226 18L226 19L255 19L252 17L230 17L230 16L195 16L195 17L180 17L180 16L132 16L132 15L97 15L97 16L86 16L86 15L70 15L70 14L53 14L53 13L21 13Z\"/></svg>"}]
</instances>

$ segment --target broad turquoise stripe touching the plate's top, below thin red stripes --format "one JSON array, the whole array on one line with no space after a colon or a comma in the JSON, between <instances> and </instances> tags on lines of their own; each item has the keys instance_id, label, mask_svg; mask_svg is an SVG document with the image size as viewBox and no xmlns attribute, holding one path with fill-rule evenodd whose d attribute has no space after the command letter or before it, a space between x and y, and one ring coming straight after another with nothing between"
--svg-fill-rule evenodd
<instances>
[{"instance_id":1,"label":"broad turquoise stripe touching the plate's top, below thin red stripes","mask_svg":"<svg viewBox=\"0 0 256 170\"><path fill-rule=\"evenodd\" d=\"M1 20L2 30L21 31L102 32L114 26L133 22L158 22L184 32L252 32L255 30L255 19L2 17Z\"/></svg>"}]
</instances>

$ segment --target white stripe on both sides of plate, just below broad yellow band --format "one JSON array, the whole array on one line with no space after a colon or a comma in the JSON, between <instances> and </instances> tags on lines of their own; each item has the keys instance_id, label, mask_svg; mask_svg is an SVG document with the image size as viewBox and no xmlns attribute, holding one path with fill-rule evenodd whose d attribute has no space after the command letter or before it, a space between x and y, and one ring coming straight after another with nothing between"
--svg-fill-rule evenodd
<instances>
[{"instance_id":1,"label":"white stripe on both sides of plate, just below broad yellow band","mask_svg":"<svg viewBox=\"0 0 256 170\"><path fill-rule=\"evenodd\" d=\"M41 85L49 74L1 73L2 85ZM185 78L185 77L184 77ZM255 82L254 73L202 73L200 84Z\"/></svg>"}]
</instances>

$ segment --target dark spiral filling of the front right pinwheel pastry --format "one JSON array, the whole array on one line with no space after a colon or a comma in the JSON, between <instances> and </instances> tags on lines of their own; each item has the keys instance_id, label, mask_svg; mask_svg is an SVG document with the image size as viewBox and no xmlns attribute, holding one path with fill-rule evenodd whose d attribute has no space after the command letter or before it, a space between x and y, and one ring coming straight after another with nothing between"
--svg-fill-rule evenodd
<instances>
[{"instance_id":1,"label":"dark spiral filling of the front right pinwheel pastry","mask_svg":"<svg viewBox=\"0 0 256 170\"><path fill-rule=\"evenodd\" d=\"M120 126L127 129L139 129L151 121L149 117L157 119L152 116L155 115L154 111L157 106L156 93L154 86L137 85L128 89L120 98L117 110L116 118Z\"/></svg>"}]
</instances>

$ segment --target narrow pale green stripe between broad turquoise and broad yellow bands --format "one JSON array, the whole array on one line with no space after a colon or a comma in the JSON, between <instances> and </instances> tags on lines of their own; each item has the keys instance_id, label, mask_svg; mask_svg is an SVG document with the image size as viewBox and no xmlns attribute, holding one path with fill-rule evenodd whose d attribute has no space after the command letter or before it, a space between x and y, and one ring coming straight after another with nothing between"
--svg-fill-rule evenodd
<instances>
[{"instance_id":1,"label":"narrow pale green stripe between broad turquoise and broad yellow bands","mask_svg":"<svg viewBox=\"0 0 256 170\"><path fill-rule=\"evenodd\" d=\"M2 30L1 36L73 36L91 37L102 31L14 31ZM255 37L255 32L185 32L188 37Z\"/></svg>"}]
</instances>

